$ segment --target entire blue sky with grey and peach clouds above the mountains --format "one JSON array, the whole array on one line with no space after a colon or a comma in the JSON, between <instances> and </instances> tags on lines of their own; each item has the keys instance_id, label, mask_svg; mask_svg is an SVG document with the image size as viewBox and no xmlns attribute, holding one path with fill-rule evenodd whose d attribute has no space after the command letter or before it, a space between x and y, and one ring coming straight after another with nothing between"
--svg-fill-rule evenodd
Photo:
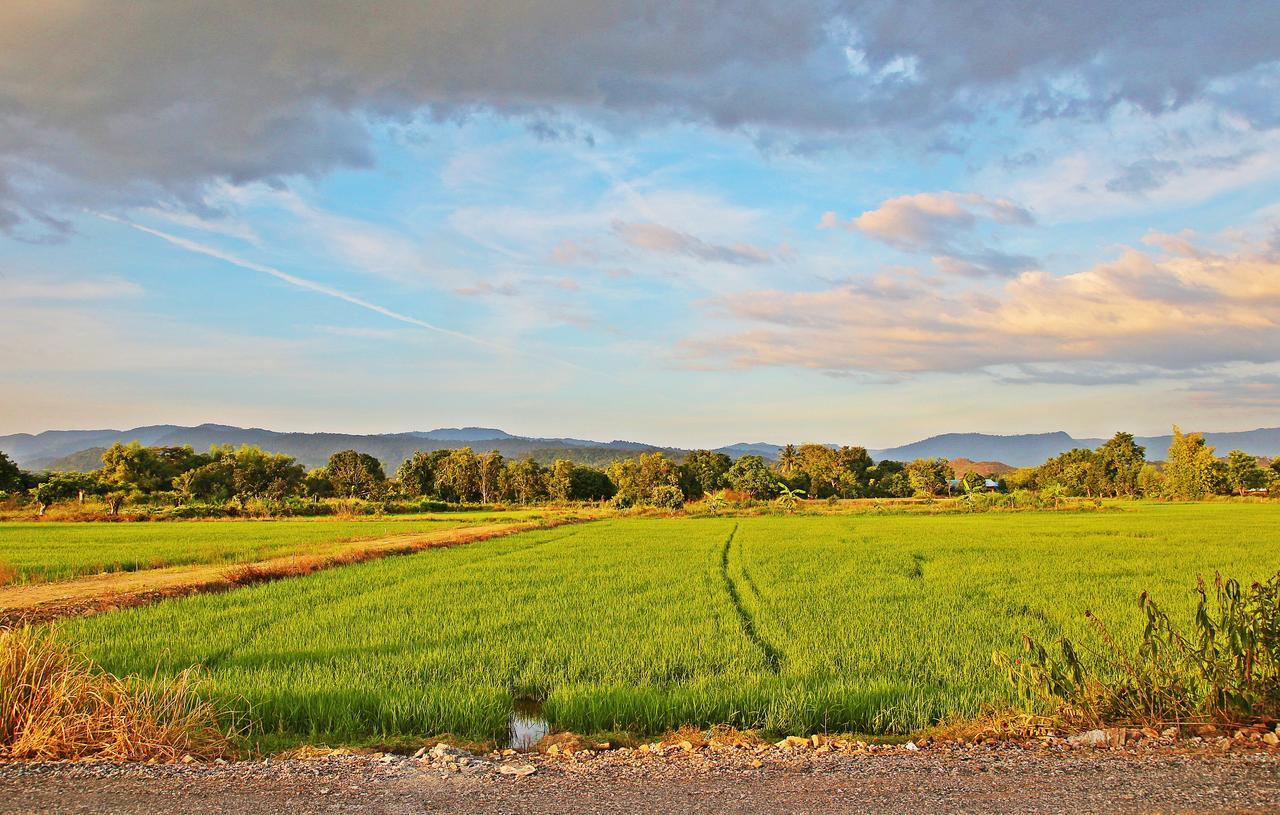
<instances>
[{"instance_id":1,"label":"entire blue sky with grey and peach clouds above the mountains","mask_svg":"<svg viewBox=\"0 0 1280 815\"><path fill-rule=\"evenodd\" d=\"M1280 4L0 6L0 434L1280 425Z\"/></svg>"}]
</instances>

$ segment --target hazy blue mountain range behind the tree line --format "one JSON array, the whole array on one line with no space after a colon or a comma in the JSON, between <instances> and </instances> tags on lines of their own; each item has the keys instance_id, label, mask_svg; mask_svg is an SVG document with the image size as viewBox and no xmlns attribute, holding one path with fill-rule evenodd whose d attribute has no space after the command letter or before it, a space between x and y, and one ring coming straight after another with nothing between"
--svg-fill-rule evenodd
<instances>
[{"instance_id":1,"label":"hazy blue mountain range behind the tree line","mask_svg":"<svg viewBox=\"0 0 1280 815\"><path fill-rule=\"evenodd\" d=\"M1147 448L1147 458L1158 461L1169 453L1172 436L1140 436L1138 444ZM1262 427L1238 432L1206 432L1208 444L1219 454L1240 449L1254 455L1280 453L1280 427ZM0 436L0 450L28 470L93 470L101 450L116 441L138 441L145 445L189 444L197 450L211 444L253 444L266 450L293 455L307 467L323 466L330 454L343 449L357 449L378 457L389 470L394 470L415 450L436 450L474 447L480 450L498 450L506 457L532 455L543 463L554 458L572 458L585 464L604 464L636 453L662 450L681 455L686 450L658 447L637 441L593 441L575 438L517 436L497 427L439 427L428 431L353 435L340 432L279 432L260 427L233 427L229 425L150 425L132 430L47 430L40 434L14 434ZM1030 467L1065 450L1094 448L1103 439L1076 439L1057 432L991 435L982 432L948 432L893 448L872 449L877 461L911 461L915 458L968 458L975 462L1005 463ZM767 441L737 443L718 448L732 458L763 455L777 458L780 444Z\"/></svg>"}]
</instances>

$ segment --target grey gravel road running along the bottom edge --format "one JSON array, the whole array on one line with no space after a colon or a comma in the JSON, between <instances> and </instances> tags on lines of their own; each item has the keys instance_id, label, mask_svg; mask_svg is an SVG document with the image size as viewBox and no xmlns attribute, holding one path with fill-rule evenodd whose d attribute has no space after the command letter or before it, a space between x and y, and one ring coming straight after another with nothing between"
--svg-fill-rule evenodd
<instances>
[{"instance_id":1,"label":"grey gravel road running along the bottom edge","mask_svg":"<svg viewBox=\"0 0 1280 815\"><path fill-rule=\"evenodd\" d=\"M518 759L525 761L525 759ZM0 764L9 812L1276 812L1275 754L956 754L640 766L539 763L529 777L403 757L201 765Z\"/></svg>"}]
</instances>

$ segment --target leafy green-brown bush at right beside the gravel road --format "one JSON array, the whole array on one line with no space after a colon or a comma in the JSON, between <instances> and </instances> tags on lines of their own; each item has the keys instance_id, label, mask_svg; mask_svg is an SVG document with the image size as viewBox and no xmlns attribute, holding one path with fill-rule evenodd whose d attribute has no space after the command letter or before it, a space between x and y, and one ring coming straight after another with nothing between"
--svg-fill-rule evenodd
<instances>
[{"instance_id":1,"label":"leafy green-brown bush at right beside the gravel road","mask_svg":"<svg viewBox=\"0 0 1280 815\"><path fill-rule=\"evenodd\" d=\"M1280 574L1242 590L1235 580L1203 581L1189 629L1183 631L1147 592L1137 651L1121 647L1087 613L1098 645L1082 653L1057 641L1059 655L1024 637L1025 654L996 661L1025 697L1047 704L1069 724L1243 723L1280 716Z\"/></svg>"}]
</instances>

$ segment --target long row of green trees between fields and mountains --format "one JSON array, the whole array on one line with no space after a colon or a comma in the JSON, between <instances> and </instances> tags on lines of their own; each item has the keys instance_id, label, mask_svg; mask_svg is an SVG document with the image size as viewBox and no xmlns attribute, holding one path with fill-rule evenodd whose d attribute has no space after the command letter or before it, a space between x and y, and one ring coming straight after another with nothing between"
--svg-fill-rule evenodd
<instances>
[{"instance_id":1,"label":"long row of green trees between fields and mountains","mask_svg":"<svg viewBox=\"0 0 1280 815\"><path fill-rule=\"evenodd\" d=\"M1280 493L1280 459L1263 467L1231 450L1224 459L1201 434L1174 427L1167 459L1155 464L1128 432L1097 449L1074 449L1038 467L1015 470L996 489L1056 496L1198 499L1213 494ZM614 507L678 508L687 500L731 490L749 499L940 496L988 489L975 472L956 479L942 458L876 462L861 447L786 445L776 462L760 455L737 461L714 450L692 450L677 461L662 452L591 467L559 458L543 466L531 457L507 459L471 448L417 452L393 476L358 450L342 450L324 467L307 471L294 458L256 447L115 444L90 473L29 473L0 453L0 493L24 495L38 510L64 500L100 496L110 513L127 502L239 505L324 499L434 500L449 504L532 504L612 502Z\"/></svg>"}]
</instances>

